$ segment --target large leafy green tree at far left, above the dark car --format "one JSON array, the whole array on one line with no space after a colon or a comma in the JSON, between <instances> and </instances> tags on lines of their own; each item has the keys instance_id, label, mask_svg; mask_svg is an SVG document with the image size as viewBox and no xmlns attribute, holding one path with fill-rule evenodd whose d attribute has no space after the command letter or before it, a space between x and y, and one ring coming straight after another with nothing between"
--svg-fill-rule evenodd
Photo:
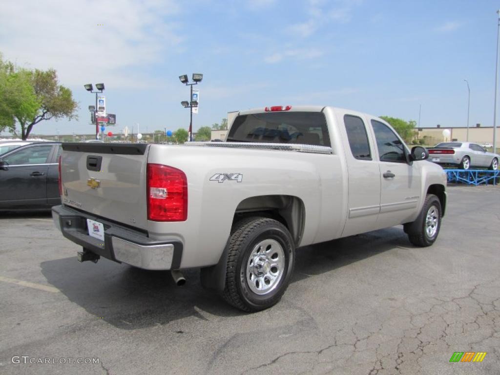
<instances>
[{"instance_id":1,"label":"large leafy green tree at far left, above the dark car","mask_svg":"<svg viewBox=\"0 0 500 375\"><path fill-rule=\"evenodd\" d=\"M54 69L28 70L0 56L0 131L8 129L26 139L33 126L50 118L76 118L71 90L59 84Z\"/></svg>"}]
</instances>

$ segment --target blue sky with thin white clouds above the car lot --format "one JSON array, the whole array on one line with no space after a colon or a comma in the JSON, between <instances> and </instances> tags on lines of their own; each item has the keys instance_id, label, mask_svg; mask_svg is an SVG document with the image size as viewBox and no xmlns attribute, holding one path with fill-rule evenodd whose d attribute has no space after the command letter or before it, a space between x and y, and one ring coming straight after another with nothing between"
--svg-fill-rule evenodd
<instances>
[{"instance_id":1,"label":"blue sky with thin white clouds above the car lot","mask_svg":"<svg viewBox=\"0 0 500 375\"><path fill-rule=\"evenodd\" d=\"M91 133L85 83L104 82L106 110L141 132L187 129L189 88L202 73L193 129L228 111L333 105L465 126L493 121L497 14L490 0L2 1L0 52L54 68L77 120L38 134ZM107 130L106 130L107 131Z\"/></svg>"}]
</instances>

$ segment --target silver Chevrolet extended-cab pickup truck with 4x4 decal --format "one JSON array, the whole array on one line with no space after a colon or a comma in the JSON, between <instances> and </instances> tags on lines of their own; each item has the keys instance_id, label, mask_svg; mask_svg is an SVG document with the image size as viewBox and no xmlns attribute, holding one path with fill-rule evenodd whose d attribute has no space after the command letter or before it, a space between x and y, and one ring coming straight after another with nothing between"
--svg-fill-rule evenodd
<instances>
[{"instance_id":1,"label":"silver Chevrolet extended-cab pickup truck with 4x4 decal","mask_svg":"<svg viewBox=\"0 0 500 375\"><path fill-rule=\"evenodd\" d=\"M330 106L240 111L224 142L64 143L55 225L100 256L144 269L201 268L233 306L275 304L295 249L403 224L431 245L446 174L382 119Z\"/></svg>"}]
</instances>

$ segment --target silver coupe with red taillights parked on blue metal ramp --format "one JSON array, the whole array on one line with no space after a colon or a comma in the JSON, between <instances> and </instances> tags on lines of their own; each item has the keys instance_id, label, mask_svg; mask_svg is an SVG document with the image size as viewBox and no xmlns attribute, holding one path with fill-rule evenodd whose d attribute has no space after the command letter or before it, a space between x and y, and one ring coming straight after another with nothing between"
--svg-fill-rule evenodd
<instances>
[{"instance_id":1,"label":"silver coupe with red taillights parked on blue metal ramp","mask_svg":"<svg viewBox=\"0 0 500 375\"><path fill-rule=\"evenodd\" d=\"M500 155L487 152L479 144L472 142L442 142L428 150L430 161L458 166L460 169L480 167L497 170L500 159Z\"/></svg>"}]
</instances>

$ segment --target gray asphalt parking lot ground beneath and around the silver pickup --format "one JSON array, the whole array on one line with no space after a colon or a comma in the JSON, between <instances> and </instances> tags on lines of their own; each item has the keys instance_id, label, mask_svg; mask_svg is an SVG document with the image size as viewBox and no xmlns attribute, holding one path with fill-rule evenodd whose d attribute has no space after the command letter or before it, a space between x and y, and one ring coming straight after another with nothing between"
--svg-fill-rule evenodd
<instances>
[{"instance_id":1,"label":"gray asphalt parking lot ground beneath and around the silver pickup","mask_svg":"<svg viewBox=\"0 0 500 375\"><path fill-rule=\"evenodd\" d=\"M48 213L0 213L0 373L498 373L500 187L451 186L448 200L431 247L393 227L300 248L281 302L254 314L196 270L177 287L168 272L80 264ZM455 351L487 354L450 363Z\"/></svg>"}]
</instances>

